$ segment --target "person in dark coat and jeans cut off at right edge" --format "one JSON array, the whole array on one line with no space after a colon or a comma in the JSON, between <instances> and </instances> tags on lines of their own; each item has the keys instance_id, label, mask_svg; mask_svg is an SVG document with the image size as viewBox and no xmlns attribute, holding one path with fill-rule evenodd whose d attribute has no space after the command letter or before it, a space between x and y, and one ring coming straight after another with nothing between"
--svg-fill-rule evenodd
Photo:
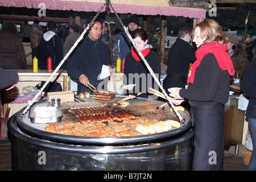
<instances>
[{"instance_id":1,"label":"person in dark coat and jeans cut off at right edge","mask_svg":"<svg viewBox=\"0 0 256 182\"><path fill-rule=\"evenodd\" d=\"M249 97L249 104L245 115L248 118L254 148L248 167L249 171L256 171L256 46L254 46L253 52L254 58L250 61L240 83L241 90Z\"/></svg>"}]
</instances>

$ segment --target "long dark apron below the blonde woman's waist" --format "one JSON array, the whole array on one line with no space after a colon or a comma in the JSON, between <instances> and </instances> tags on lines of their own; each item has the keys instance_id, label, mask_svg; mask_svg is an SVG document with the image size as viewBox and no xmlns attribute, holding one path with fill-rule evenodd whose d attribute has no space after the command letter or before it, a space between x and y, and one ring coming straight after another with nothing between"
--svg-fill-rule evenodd
<instances>
[{"instance_id":1,"label":"long dark apron below the blonde woman's waist","mask_svg":"<svg viewBox=\"0 0 256 182\"><path fill-rule=\"evenodd\" d=\"M222 104L191 107L195 125L194 171L222 170L225 113Z\"/></svg>"}]
</instances>

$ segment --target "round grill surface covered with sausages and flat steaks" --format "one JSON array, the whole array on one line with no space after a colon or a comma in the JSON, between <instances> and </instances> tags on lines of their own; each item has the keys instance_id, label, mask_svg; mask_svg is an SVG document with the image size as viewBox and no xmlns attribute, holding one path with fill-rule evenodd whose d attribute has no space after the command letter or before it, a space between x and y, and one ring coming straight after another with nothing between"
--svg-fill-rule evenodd
<instances>
[{"instance_id":1,"label":"round grill surface covered with sausages and flat steaks","mask_svg":"<svg viewBox=\"0 0 256 182\"><path fill-rule=\"evenodd\" d=\"M24 122L39 130L56 134L76 135L82 137L129 137L141 135L135 130L137 125L152 125L168 119L178 120L176 114L170 111L170 106L165 109L156 109L163 102L159 100L146 100L137 98L129 101L130 105L123 107L114 105L111 101L96 101L85 98L82 101L61 104L63 118L59 123L35 124ZM180 112L185 122L189 121L187 111ZM182 126L181 126L182 127ZM171 130L175 130L172 127Z\"/></svg>"}]
</instances>

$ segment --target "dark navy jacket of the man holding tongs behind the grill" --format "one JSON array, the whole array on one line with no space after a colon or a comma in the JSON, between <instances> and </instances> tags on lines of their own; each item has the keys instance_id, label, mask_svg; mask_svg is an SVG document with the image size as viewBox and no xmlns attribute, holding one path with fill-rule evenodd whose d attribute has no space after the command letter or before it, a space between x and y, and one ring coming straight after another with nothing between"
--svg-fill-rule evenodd
<instances>
[{"instance_id":1,"label":"dark navy jacket of the man holding tongs behind the grill","mask_svg":"<svg viewBox=\"0 0 256 182\"><path fill-rule=\"evenodd\" d=\"M111 65L110 49L102 42L102 37L96 42L88 36L82 40L69 57L67 70L75 80L84 74L90 84L97 86L102 80L98 80L102 65ZM84 92L86 86L78 83L77 93Z\"/></svg>"}]
</instances>

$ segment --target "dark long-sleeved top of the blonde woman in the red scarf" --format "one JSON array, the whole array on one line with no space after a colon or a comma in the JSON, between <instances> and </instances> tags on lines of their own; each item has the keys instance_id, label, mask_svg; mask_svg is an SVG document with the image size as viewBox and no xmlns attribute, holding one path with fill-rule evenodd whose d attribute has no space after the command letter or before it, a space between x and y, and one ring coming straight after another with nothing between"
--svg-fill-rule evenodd
<instances>
[{"instance_id":1,"label":"dark long-sleeved top of the blonde woman in the red scarf","mask_svg":"<svg viewBox=\"0 0 256 182\"><path fill-rule=\"evenodd\" d=\"M208 53L196 68L195 81L189 89L181 89L179 94L191 106L225 104L229 99L230 75L218 65L213 53Z\"/></svg>"}]
</instances>

